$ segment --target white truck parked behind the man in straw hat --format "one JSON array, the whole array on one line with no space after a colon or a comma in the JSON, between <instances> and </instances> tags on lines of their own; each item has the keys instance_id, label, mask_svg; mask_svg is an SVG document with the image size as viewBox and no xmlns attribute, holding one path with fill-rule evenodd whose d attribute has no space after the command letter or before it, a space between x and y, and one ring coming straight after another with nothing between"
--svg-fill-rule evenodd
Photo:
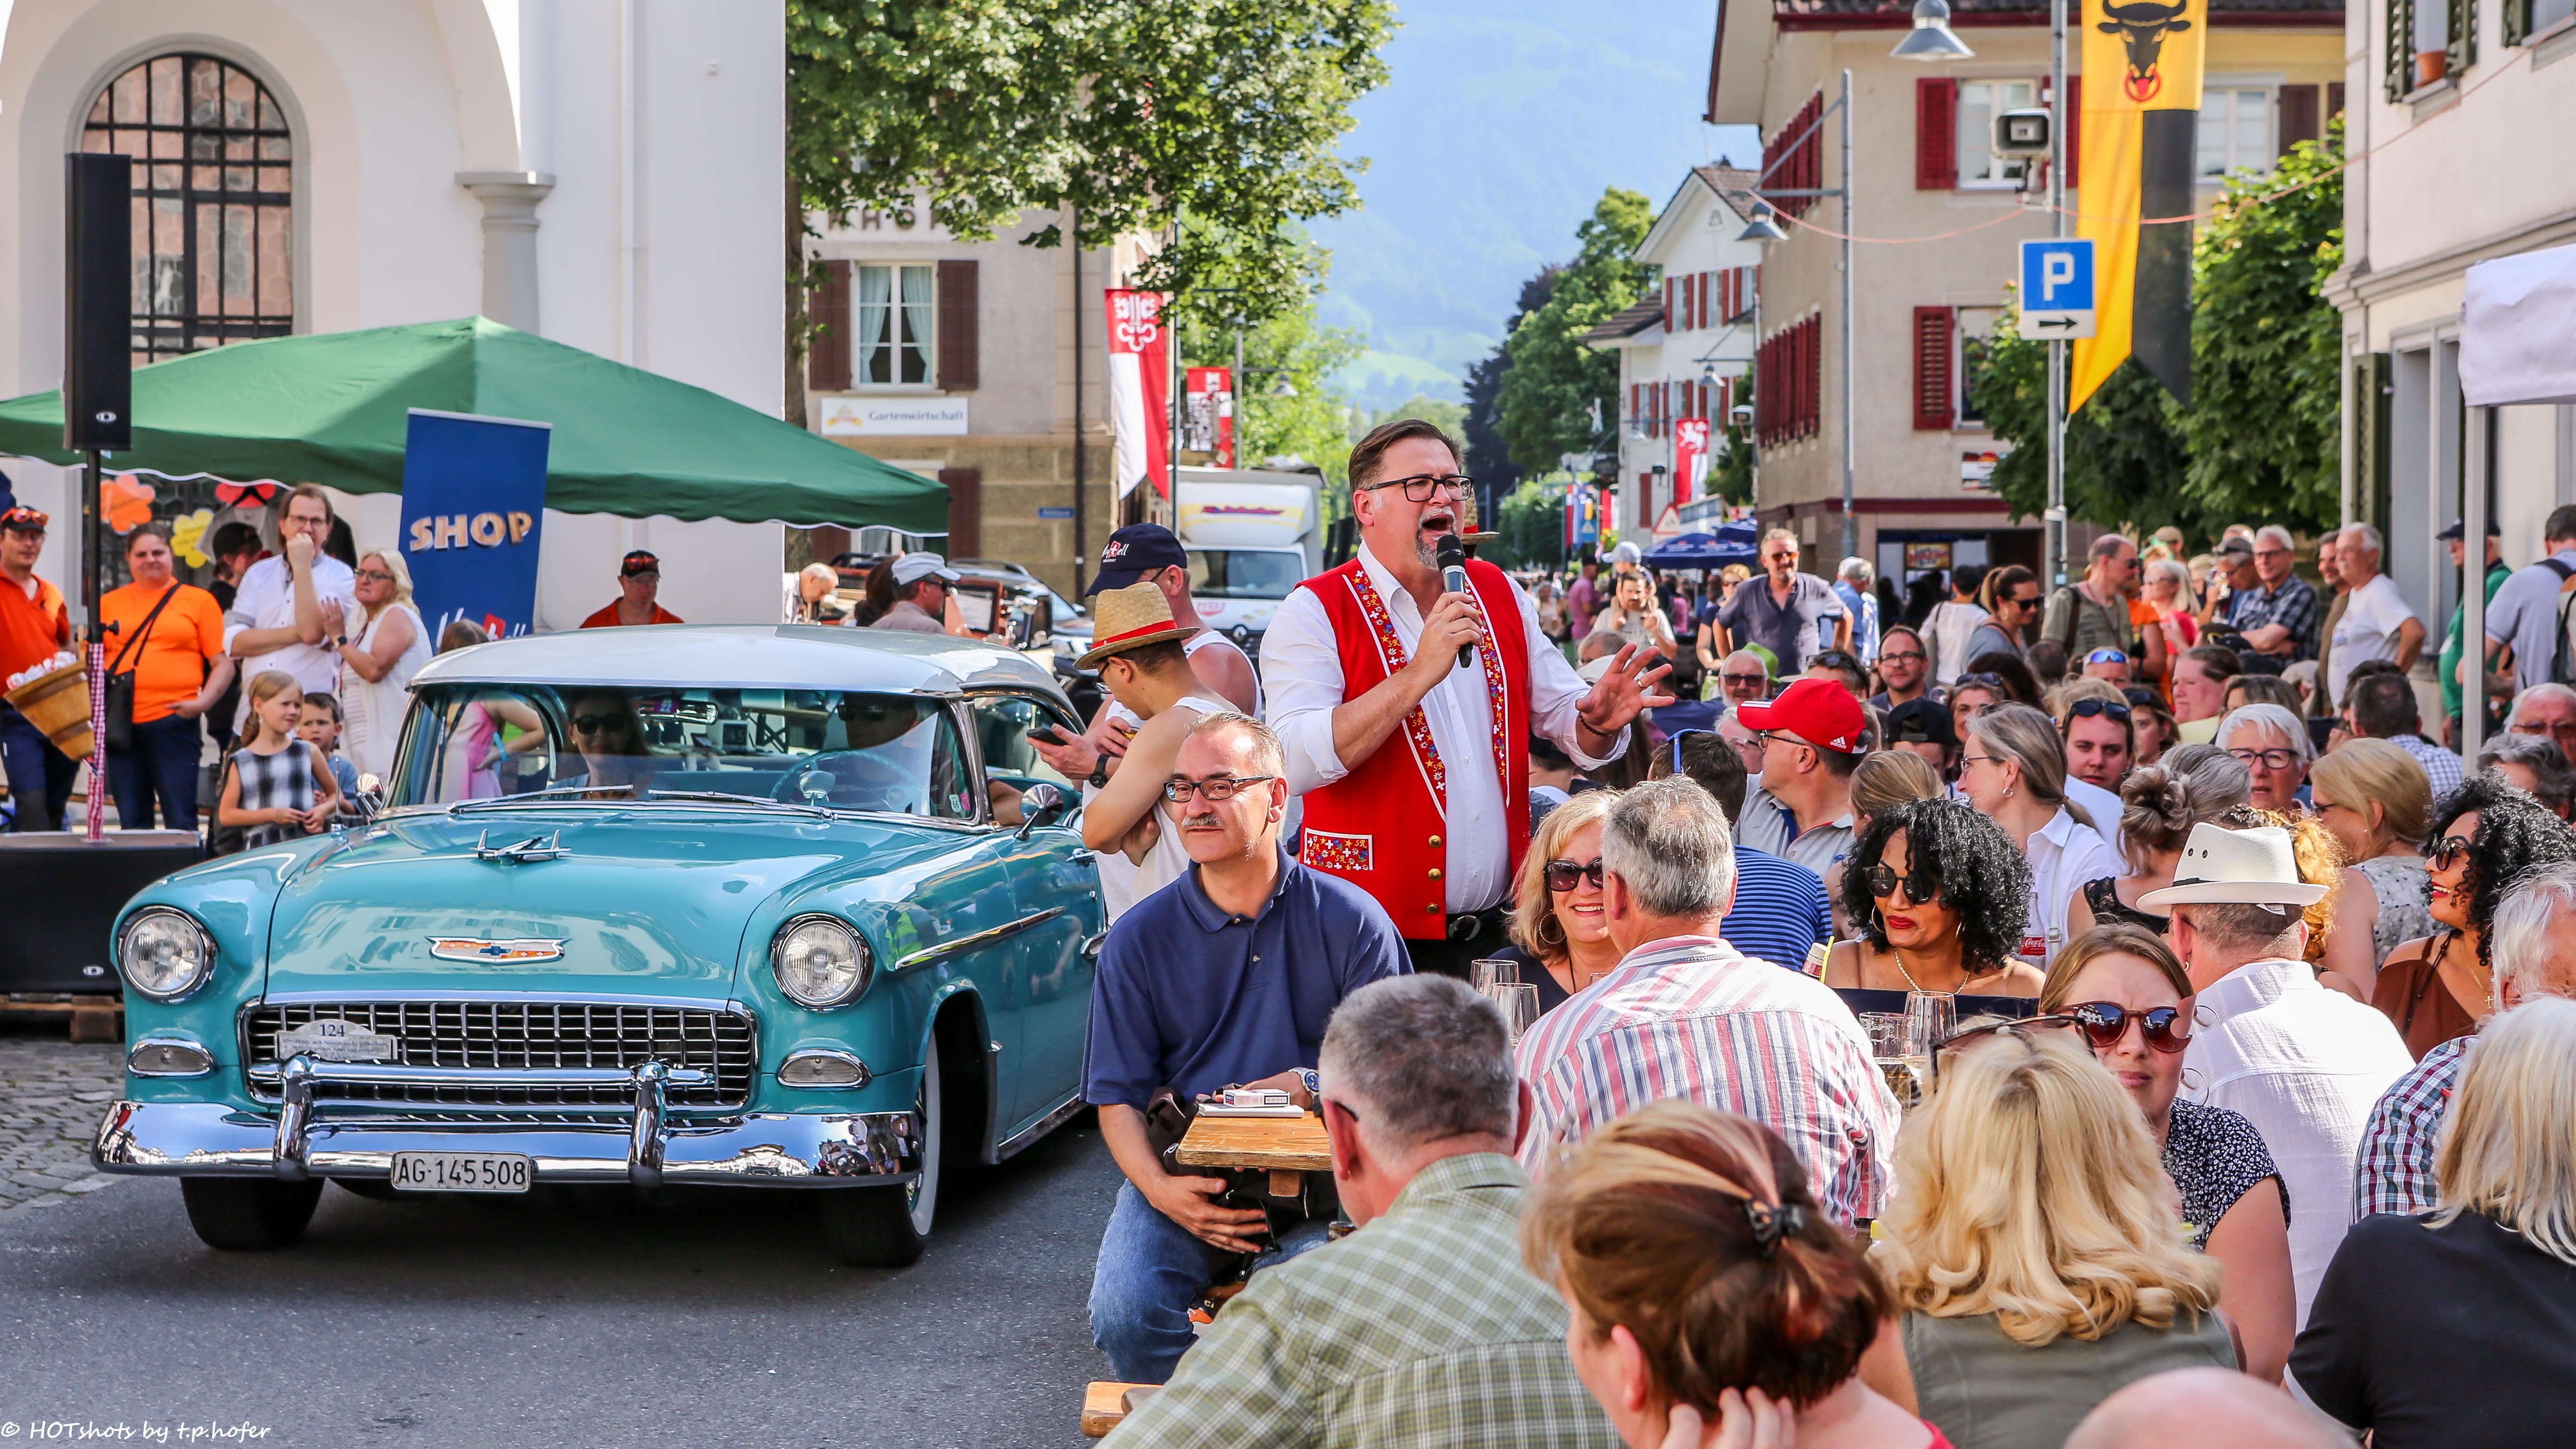
<instances>
[{"instance_id":1,"label":"white truck parked behind the man in straw hat","mask_svg":"<svg viewBox=\"0 0 2576 1449\"><path fill-rule=\"evenodd\" d=\"M1280 600L1324 571L1324 476L1182 468L1175 504L1198 623L1257 656Z\"/></svg>"}]
</instances>

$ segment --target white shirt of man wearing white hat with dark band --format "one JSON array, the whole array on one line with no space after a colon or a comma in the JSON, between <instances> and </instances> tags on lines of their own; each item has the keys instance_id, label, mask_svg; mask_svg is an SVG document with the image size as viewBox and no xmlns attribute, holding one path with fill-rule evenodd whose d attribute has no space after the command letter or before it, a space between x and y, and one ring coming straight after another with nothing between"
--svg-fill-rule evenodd
<instances>
[{"instance_id":1,"label":"white shirt of man wearing white hat with dark band","mask_svg":"<svg viewBox=\"0 0 2576 1449\"><path fill-rule=\"evenodd\" d=\"M2409 1068L2388 1017L2326 991L2300 960L2239 965L2195 1001L2182 1096L2241 1112L2272 1148L2290 1189L2300 1325L2344 1241L2362 1127Z\"/></svg>"}]
</instances>

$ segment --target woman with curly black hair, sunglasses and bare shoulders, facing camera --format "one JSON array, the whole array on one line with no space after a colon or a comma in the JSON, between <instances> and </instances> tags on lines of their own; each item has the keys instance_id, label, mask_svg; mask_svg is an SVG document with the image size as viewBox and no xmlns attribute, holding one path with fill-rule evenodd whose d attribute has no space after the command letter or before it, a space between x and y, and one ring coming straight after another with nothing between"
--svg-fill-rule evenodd
<instances>
[{"instance_id":1,"label":"woman with curly black hair, sunglasses and bare shoulders, facing camera","mask_svg":"<svg viewBox=\"0 0 2576 1449\"><path fill-rule=\"evenodd\" d=\"M1842 862L1842 909L1860 927L1824 963L1826 986L2038 996L2014 960L2030 914L2030 862L1958 800L1906 800Z\"/></svg>"}]
</instances>

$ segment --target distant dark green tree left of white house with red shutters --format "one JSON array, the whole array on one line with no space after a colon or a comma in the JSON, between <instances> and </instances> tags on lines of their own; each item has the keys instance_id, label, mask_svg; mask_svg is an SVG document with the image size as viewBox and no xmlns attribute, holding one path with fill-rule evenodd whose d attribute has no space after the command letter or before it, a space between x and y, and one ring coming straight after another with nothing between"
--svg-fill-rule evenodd
<instances>
[{"instance_id":1,"label":"distant dark green tree left of white house with red shutters","mask_svg":"<svg viewBox=\"0 0 2576 1449\"><path fill-rule=\"evenodd\" d=\"M1522 317L1504 342L1512 368L1502 376L1497 412L1512 463L1525 474L1556 468L1561 453L1589 453L1618 427L1618 353L1587 347L1584 332L1654 281L1654 268L1631 260L1649 226L1651 201L1615 185L1605 190L1574 229L1579 252L1556 275L1546 306Z\"/></svg>"}]
</instances>

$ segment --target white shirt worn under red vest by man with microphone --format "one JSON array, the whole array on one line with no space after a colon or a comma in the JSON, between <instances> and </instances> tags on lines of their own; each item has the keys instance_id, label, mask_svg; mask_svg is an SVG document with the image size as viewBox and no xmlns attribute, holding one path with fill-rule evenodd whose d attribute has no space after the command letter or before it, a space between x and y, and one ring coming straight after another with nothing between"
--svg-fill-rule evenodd
<instances>
[{"instance_id":1,"label":"white shirt worn under red vest by man with microphone","mask_svg":"<svg viewBox=\"0 0 2576 1449\"><path fill-rule=\"evenodd\" d=\"M1422 641L1422 610L1365 543L1360 569L1386 600L1396 641L1412 659ZM1512 600L1520 602L1520 633L1530 651L1530 734L1553 739L1587 770L1618 759L1628 749L1625 734L1613 741L1610 754L1584 754L1577 710L1592 685L1584 685L1556 643L1538 631L1538 607L1520 584L1512 584ZM1342 764L1332 746L1332 710L1347 703L1342 685L1342 649L1332 638L1324 600L1314 589L1293 589L1262 633L1262 692L1270 703L1270 728L1288 752L1288 788L1298 795L1350 775L1350 764ZM1510 816L1504 816L1502 780L1494 777L1494 708L1484 692L1484 667L1450 669L1430 695L1422 695L1422 718L1432 726L1440 762L1448 764L1448 831L1443 831L1450 842L1448 909L1484 911L1512 891L1512 831L1504 824ZM1404 726L1399 723L1378 749L1404 749ZM1528 741L1507 739L1504 749L1525 752Z\"/></svg>"}]
</instances>

